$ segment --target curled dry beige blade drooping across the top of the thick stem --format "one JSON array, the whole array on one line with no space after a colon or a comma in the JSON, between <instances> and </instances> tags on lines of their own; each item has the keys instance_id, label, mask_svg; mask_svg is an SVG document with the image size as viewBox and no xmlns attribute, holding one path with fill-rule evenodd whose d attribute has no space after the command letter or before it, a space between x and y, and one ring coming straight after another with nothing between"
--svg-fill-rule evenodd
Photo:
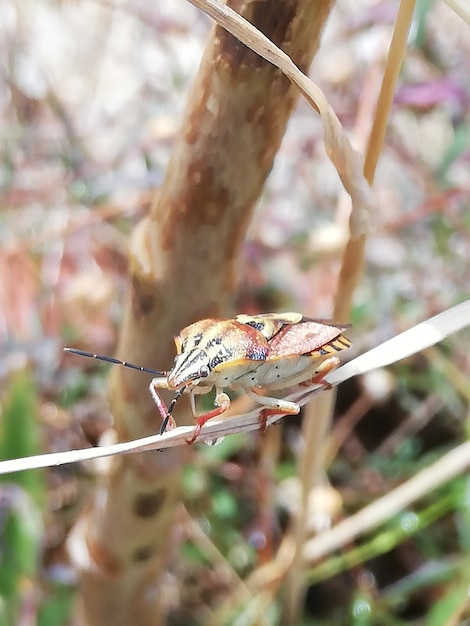
<instances>
[{"instance_id":1,"label":"curled dry beige blade drooping across the top of the thick stem","mask_svg":"<svg viewBox=\"0 0 470 626\"><path fill-rule=\"evenodd\" d=\"M362 171L362 157L352 147L322 90L299 70L287 54L230 7L217 0L189 0L189 2L212 17L248 48L282 70L319 112L323 123L325 149L344 188L351 196L353 206L350 219L351 234L358 238L367 233L372 201L370 188Z\"/></svg>"}]
</instances>

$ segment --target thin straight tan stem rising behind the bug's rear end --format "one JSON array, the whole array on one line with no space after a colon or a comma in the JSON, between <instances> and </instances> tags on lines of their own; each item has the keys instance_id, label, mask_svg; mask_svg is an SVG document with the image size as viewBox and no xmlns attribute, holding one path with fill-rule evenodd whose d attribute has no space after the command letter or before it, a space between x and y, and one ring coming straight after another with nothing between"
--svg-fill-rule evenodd
<instances>
[{"instance_id":1,"label":"thin straight tan stem rising behind the bug's rear end","mask_svg":"<svg viewBox=\"0 0 470 626\"><path fill-rule=\"evenodd\" d=\"M390 51L382 80L376 114L364 161L364 176L372 184L377 161L383 146L386 124L392 104L398 72L406 50L406 39L413 15L414 2L404 0L400 4L395 23ZM335 300L333 319L346 321L349 319L352 299L364 266L366 234L357 236L357 207L352 207L350 217L351 236L346 244L341 270L338 279L338 290ZM305 591L304 563L302 559L303 545L306 537L307 506L309 494L324 480L324 460L328 448L326 439L330 430L331 416L335 400L334 391L329 391L315 398L313 410L304 425L304 449L299 461L299 474L302 481L302 510L296 520L295 534L297 554L291 569L287 602L285 610L286 623L298 621L302 598ZM312 413L315 419L312 419Z\"/></svg>"}]
</instances>

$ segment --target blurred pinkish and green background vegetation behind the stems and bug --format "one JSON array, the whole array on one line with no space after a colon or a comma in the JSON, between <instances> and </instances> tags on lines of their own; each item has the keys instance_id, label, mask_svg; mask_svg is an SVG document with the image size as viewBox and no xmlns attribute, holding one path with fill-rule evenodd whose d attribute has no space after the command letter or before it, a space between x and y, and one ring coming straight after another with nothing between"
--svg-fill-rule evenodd
<instances>
[{"instance_id":1,"label":"blurred pinkish and green background vegetation behind the stems and bug","mask_svg":"<svg viewBox=\"0 0 470 626\"><path fill-rule=\"evenodd\" d=\"M388 0L338 2L309 72L361 151L395 13ZM129 236L155 202L211 25L182 0L11 0L0 16L0 455L15 458L110 432L108 368L62 348L115 352ZM419 2L374 183L354 354L468 297L469 65L468 24L443 2ZM237 262L232 309L331 315L348 211L301 99ZM184 307L184 285L172 289ZM339 390L325 444L331 486L312 492L306 542L467 439L468 346L459 334ZM191 452L160 587L168 623L288 623L301 420ZM100 471L3 478L0 624L77 623L65 539ZM469 624L468 489L466 476L454 479L309 561L295 624Z\"/></svg>"}]
</instances>

